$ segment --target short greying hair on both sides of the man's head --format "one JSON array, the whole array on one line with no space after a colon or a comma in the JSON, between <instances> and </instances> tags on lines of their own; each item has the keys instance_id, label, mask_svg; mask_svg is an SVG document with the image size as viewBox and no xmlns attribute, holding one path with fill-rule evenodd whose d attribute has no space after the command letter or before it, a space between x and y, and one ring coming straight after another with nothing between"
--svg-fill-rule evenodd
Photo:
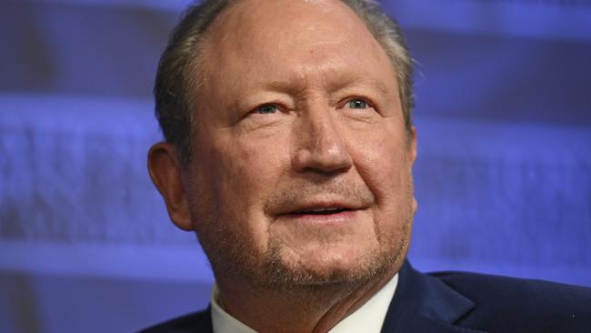
<instances>
[{"instance_id":1,"label":"short greying hair on both sides of the man's head","mask_svg":"<svg viewBox=\"0 0 591 333\"><path fill-rule=\"evenodd\" d=\"M158 63L155 77L155 116L166 142L176 147L183 165L192 158L195 133L193 96L200 77L201 49L205 32L227 5L237 0L205 0L190 6L175 26ZM399 25L381 11L374 0L342 0L364 22L390 57L396 70L398 94L402 101L405 126L411 133L413 61Z\"/></svg>"}]
</instances>

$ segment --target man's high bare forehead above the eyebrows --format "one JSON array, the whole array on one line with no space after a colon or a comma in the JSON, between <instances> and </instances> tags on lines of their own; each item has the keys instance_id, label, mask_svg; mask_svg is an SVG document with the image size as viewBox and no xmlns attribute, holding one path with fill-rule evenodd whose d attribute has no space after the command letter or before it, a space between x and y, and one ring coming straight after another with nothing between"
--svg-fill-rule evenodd
<instances>
[{"instance_id":1,"label":"man's high bare forehead above the eyebrows","mask_svg":"<svg viewBox=\"0 0 591 333\"><path fill-rule=\"evenodd\" d=\"M395 77L384 49L338 0L236 1L209 27L202 66L209 85L225 86L270 77Z\"/></svg>"}]
</instances>

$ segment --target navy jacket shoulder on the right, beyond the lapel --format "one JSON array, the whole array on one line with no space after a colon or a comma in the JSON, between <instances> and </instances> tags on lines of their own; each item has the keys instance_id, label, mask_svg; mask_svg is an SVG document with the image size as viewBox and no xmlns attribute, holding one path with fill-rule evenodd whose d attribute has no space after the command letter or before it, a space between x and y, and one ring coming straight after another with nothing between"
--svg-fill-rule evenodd
<instances>
[{"instance_id":1,"label":"navy jacket shoulder on the right, beyond the lapel","mask_svg":"<svg viewBox=\"0 0 591 333\"><path fill-rule=\"evenodd\" d=\"M591 329L591 288L463 272L429 274L471 299L476 307L463 321L493 331L544 332Z\"/></svg>"}]
</instances>

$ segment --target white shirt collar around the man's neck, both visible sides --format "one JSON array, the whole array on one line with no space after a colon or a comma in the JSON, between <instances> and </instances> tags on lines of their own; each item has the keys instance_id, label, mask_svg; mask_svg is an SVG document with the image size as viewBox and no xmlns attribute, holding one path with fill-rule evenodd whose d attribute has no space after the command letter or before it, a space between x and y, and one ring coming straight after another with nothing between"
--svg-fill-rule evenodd
<instances>
[{"instance_id":1,"label":"white shirt collar around the man's neck, both visible sides","mask_svg":"<svg viewBox=\"0 0 591 333\"><path fill-rule=\"evenodd\" d=\"M386 312L396 292L398 274L390 279L366 304L357 308L355 312L347 316L331 328L329 333L379 333L386 318ZM253 328L247 327L240 320L230 316L217 304L217 287L214 285L211 296L211 319L214 333L256 333Z\"/></svg>"}]
</instances>

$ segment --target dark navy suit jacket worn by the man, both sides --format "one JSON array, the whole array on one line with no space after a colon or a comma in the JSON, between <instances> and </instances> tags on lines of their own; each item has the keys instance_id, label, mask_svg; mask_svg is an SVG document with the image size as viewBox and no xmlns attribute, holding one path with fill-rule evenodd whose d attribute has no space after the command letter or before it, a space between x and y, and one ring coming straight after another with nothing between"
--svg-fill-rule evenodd
<instances>
[{"instance_id":1,"label":"dark navy suit jacket worn by the man, both sides","mask_svg":"<svg viewBox=\"0 0 591 333\"><path fill-rule=\"evenodd\" d=\"M142 332L212 331L206 309ZM591 289L482 274L426 275L406 262L382 332L591 333Z\"/></svg>"}]
</instances>

